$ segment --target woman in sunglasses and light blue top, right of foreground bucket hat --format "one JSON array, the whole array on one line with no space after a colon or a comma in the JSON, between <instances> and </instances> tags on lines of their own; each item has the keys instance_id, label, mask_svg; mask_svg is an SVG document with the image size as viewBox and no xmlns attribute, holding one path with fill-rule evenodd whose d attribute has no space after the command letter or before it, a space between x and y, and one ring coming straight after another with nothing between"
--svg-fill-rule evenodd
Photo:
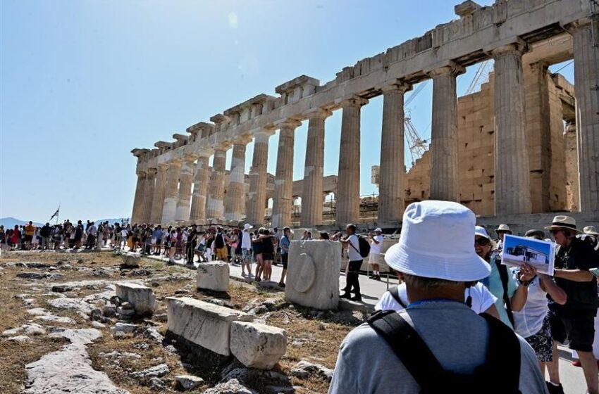
<instances>
[{"instance_id":1,"label":"woman in sunglasses and light blue top, right of foreground bucket hat","mask_svg":"<svg viewBox=\"0 0 599 394\"><path fill-rule=\"evenodd\" d=\"M514 316L512 310L519 311L524 307L528 288L526 286L517 288L512 274L508 272L505 265L501 265L499 254L493 253L493 241L491 241L486 229L481 226L476 226L474 231L474 250L491 267L490 275L482 282L491 294L497 297L495 307L497 307L501 321L513 329ZM526 265L521 269L520 280L530 281L535 275L536 269Z\"/></svg>"}]
</instances>

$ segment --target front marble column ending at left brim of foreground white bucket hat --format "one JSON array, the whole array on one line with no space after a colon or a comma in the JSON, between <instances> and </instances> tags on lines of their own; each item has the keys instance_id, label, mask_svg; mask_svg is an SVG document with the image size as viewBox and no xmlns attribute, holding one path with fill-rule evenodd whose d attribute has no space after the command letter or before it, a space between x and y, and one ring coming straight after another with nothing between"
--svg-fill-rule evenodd
<instances>
[{"instance_id":1,"label":"front marble column ending at left brim of foreground white bucket hat","mask_svg":"<svg viewBox=\"0 0 599 394\"><path fill-rule=\"evenodd\" d=\"M400 222L404 212L404 94L409 84L383 87L381 179L378 185L378 221Z\"/></svg>"}]
</instances>

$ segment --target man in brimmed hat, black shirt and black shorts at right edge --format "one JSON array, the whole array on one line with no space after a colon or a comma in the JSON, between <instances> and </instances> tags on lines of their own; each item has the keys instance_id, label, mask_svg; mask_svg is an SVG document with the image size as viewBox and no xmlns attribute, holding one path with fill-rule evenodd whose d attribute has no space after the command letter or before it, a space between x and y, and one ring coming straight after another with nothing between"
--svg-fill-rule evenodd
<instances>
[{"instance_id":1,"label":"man in brimmed hat, black shirt and black shorts at right edge","mask_svg":"<svg viewBox=\"0 0 599 394\"><path fill-rule=\"evenodd\" d=\"M588 393L599 393L597 360L593 355L595 316L599 307L597 280L589 269L597 268L599 258L593 247L576 238L581 233L574 217L557 215L548 229L558 248L555 253L555 283L564 289L567 302L559 305L550 298L549 324L553 337L553 361L548 362L550 393L563 393L560 383L557 342L569 340L568 347L576 350L586 379Z\"/></svg>"}]
</instances>

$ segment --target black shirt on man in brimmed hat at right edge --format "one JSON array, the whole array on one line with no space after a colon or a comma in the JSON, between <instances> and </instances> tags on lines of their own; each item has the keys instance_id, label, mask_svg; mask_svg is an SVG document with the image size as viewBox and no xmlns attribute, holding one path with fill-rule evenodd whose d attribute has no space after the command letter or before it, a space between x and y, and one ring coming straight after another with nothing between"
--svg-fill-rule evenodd
<instances>
[{"instance_id":1,"label":"black shirt on man in brimmed hat at right edge","mask_svg":"<svg viewBox=\"0 0 599 394\"><path fill-rule=\"evenodd\" d=\"M599 255L593 247L580 239L573 239L567 248L560 247L555 253L556 269L589 269L599 266ZM565 305L551 303L555 311L593 310L599 307L597 295L597 278L591 281L576 282L564 278L555 278L557 286L562 288L566 295Z\"/></svg>"}]
</instances>

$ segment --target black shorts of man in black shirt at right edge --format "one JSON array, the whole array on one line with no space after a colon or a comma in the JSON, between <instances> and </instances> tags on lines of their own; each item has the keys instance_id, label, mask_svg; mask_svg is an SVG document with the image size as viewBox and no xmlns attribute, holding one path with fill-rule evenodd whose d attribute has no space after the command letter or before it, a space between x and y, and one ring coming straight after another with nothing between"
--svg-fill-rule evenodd
<instances>
[{"instance_id":1,"label":"black shorts of man in black shirt at right edge","mask_svg":"<svg viewBox=\"0 0 599 394\"><path fill-rule=\"evenodd\" d=\"M575 310L564 316L550 310L549 324L553 339L560 343L568 339L568 348L579 352L592 352L596 314L597 310Z\"/></svg>"}]
</instances>

